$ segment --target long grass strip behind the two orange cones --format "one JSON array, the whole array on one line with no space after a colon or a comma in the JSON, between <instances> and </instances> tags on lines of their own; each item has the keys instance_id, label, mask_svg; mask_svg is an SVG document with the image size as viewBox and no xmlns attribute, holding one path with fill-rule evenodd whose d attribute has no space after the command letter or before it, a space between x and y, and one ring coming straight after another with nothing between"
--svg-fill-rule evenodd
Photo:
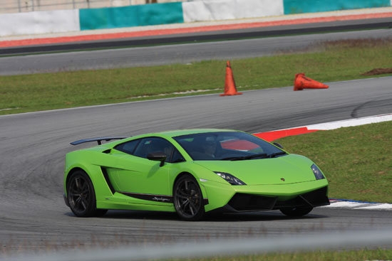
<instances>
[{"instance_id":1,"label":"long grass strip behind the two orange cones","mask_svg":"<svg viewBox=\"0 0 392 261\"><path fill-rule=\"evenodd\" d=\"M369 78L373 68L390 68L392 39L319 44L304 53L232 60L239 90L292 86L296 73L320 82ZM191 65L88 70L0 77L0 114L101 105L190 94L223 92L226 61ZM206 93L206 92L203 92ZM194 93L193 93L194 95Z\"/></svg>"}]
</instances>

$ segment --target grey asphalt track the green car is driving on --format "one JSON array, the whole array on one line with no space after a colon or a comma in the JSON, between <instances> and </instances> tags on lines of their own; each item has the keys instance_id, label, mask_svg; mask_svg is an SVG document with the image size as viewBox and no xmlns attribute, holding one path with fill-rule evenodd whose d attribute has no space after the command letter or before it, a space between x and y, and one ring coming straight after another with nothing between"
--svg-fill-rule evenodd
<instances>
[{"instance_id":1,"label":"grey asphalt track the green car is driving on","mask_svg":"<svg viewBox=\"0 0 392 261\"><path fill-rule=\"evenodd\" d=\"M294 92L292 87L283 87L232 97L201 95L1 116L3 250L273 237L391 226L390 211L328 208L315 209L298 219L265 212L189 223L178 220L175 214L135 211L109 211L103 218L76 218L62 198L63 160L66 152L77 149L69 144L76 139L193 127L262 132L391 113L391 80L328 82L326 90Z\"/></svg>"}]
</instances>

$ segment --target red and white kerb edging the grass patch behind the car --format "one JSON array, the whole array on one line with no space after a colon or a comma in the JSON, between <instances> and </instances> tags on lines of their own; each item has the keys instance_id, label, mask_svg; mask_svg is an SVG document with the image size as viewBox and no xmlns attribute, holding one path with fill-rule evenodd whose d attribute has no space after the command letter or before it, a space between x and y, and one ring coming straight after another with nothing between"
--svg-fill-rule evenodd
<instances>
[{"instance_id":1,"label":"red and white kerb edging the grass patch behind the car","mask_svg":"<svg viewBox=\"0 0 392 261\"><path fill-rule=\"evenodd\" d=\"M272 132L254 133L257 137L265 139L269 142L275 139L306 134L311 132L319 132L323 130L339 129L341 127L354 127L364 124L372 124L377 122L388 122L392 120L392 114L381 114L371 117L362 117L357 119L347 119L337 122L326 122L321 124L311 124L301 127L293 127L289 129L279 129ZM331 205L322 208L351 208L351 209L367 209L367 210L389 210L392 211L392 204L376 203L366 201L351 201L346 199L331 198Z\"/></svg>"}]
</instances>

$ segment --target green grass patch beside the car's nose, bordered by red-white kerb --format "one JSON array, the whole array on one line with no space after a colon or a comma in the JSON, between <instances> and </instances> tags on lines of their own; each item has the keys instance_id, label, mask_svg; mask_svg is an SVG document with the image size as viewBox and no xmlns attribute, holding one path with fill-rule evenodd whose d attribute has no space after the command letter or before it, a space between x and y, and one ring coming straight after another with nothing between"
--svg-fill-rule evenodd
<instances>
[{"instance_id":1,"label":"green grass patch beside the car's nose, bordered by red-white kerb","mask_svg":"<svg viewBox=\"0 0 392 261\"><path fill-rule=\"evenodd\" d=\"M278 139L308 156L329 180L329 196L392 203L392 122L319 131Z\"/></svg>"}]
</instances>

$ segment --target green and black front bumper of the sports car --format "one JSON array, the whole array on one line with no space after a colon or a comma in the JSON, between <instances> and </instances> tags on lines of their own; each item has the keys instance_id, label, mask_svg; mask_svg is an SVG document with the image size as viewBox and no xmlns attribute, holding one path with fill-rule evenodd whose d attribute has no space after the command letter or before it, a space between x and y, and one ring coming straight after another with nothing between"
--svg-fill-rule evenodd
<instances>
[{"instance_id":1,"label":"green and black front bumper of the sports car","mask_svg":"<svg viewBox=\"0 0 392 261\"><path fill-rule=\"evenodd\" d=\"M209 204L205 211L225 208L227 211L267 211L281 208L329 205L328 181L301 183L231 186L203 182Z\"/></svg>"}]
</instances>

